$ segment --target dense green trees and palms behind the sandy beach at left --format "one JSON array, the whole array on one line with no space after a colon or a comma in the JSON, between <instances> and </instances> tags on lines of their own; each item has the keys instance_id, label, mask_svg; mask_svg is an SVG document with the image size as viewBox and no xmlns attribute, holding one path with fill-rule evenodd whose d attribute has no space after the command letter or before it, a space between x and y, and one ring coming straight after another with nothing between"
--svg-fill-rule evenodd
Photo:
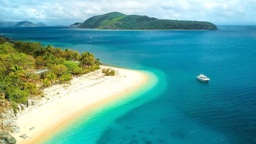
<instances>
[{"instance_id":1,"label":"dense green trees and palms behind the sandy beach at left","mask_svg":"<svg viewBox=\"0 0 256 144\"><path fill-rule=\"evenodd\" d=\"M68 48L42 46L39 42L8 42L0 44L0 93L12 103L25 103L27 97L40 95L40 88L65 83L72 76L100 69L94 54ZM46 72L36 73L45 68Z\"/></svg>"}]
</instances>

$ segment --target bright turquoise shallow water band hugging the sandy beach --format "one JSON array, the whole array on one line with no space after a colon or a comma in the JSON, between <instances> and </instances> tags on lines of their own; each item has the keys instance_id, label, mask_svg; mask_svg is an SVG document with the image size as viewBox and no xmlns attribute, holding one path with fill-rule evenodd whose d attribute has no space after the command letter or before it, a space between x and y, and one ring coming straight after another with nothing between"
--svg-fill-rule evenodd
<instances>
[{"instance_id":1,"label":"bright turquoise shallow water band hugging the sandy beach","mask_svg":"<svg viewBox=\"0 0 256 144\"><path fill-rule=\"evenodd\" d=\"M158 75L164 75L159 70L155 71ZM47 134L37 144L98 143L97 137L107 131L108 126L114 124L116 118L143 103L152 101L163 93L166 82L160 82L155 73L142 72L149 77L149 80L142 86L128 94L121 95L118 99L92 107L88 111L70 118L69 122ZM159 88L159 84L161 88ZM154 92L154 89L158 89L158 91ZM148 96L147 93L152 95Z\"/></svg>"}]
</instances>

